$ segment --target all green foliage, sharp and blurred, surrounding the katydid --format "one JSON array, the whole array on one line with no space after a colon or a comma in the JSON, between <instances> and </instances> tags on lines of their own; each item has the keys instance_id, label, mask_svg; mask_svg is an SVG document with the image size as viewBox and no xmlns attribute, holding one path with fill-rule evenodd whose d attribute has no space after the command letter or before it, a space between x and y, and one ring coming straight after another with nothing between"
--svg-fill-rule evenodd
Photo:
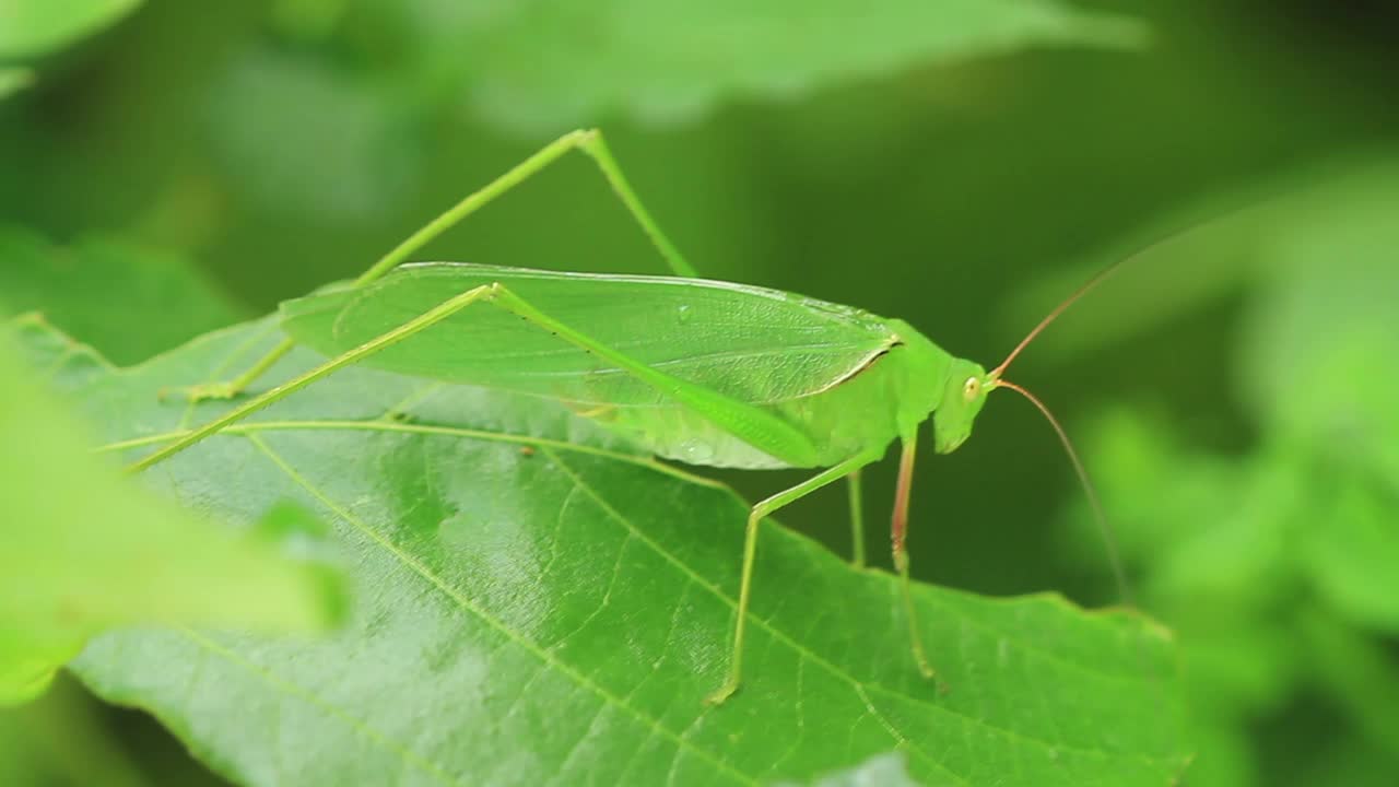
<instances>
[{"instance_id":1,"label":"all green foliage, sharp and blurred, surrounding the katydid","mask_svg":"<svg viewBox=\"0 0 1399 787\"><path fill-rule=\"evenodd\" d=\"M87 563L22 563L27 588L111 588L95 601L120 613L95 629L145 625L0 711L0 781L1392 781L1392 11L634 6L0 0L0 301L57 326L6 330L32 371L0 374L24 398L0 410L0 562L63 532L11 517L21 500L88 531L165 513L97 528ZM353 277L574 125L606 129L706 276L905 318L986 365L1094 269L1193 227L1010 371L1081 443L1170 639L1077 606L1121 599L1052 433L1009 395L916 473L940 682L909 674L887 559L844 562L831 490L764 531L748 683L718 709L698 697L726 653L741 500L797 475L701 482L540 402L348 370L118 478L118 457L228 406L179 386L276 340L217 329ZM569 160L421 256L659 267ZM893 483L866 473L872 524ZM101 560L165 515L185 527L150 559ZM316 520L330 538L302 532ZM344 566L344 626L154 625L127 602L229 598L143 595L189 578L132 570L171 555L299 578L306 605L273 612L318 622L325 564ZM67 633L53 664L94 632Z\"/></svg>"}]
</instances>

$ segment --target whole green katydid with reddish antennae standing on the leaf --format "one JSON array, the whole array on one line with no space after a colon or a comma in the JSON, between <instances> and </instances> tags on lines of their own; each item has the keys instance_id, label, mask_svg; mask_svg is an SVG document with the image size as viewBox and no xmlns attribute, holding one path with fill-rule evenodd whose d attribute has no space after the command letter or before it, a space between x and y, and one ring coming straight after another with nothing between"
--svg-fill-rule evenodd
<instances>
[{"instance_id":1,"label":"whole green katydid with reddish antennae standing on the leaf","mask_svg":"<svg viewBox=\"0 0 1399 787\"><path fill-rule=\"evenodd\" d=\"M400 265L443 230L574 148L597 162L676 276ZM1107 273L1060 304L1006 361L986 371L949 354L900 319L778 290L697 279L641 206L602 136L574 132L467 196L351 286L283 304L288 339L239 379L193 395L241 394L294 343L332 360L192 430L133 469L183 451L354 363L555 399L667 459L719 468L824 468L753 506L748 514L733 654L727 679L708 697L718 703L740 682L760 522L823 486L848 479L855 562L862 564L860 468L880 459L898 440L902 459L891 531L894 566L914 661L932 676L914 619L905 549L918 430L932 417L933 450L956 451L971 436L986 395L1010 388L1049 417L1084 478L1049 412L1002 374L1045 325Z\"/></svg>"}]
</instances>

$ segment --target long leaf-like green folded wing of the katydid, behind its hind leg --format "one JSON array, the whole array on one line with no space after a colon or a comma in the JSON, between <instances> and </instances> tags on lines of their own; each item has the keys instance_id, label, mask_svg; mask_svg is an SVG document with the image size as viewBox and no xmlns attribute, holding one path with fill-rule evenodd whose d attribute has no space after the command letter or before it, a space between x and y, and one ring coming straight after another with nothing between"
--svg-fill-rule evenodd
<instances>
[{"instance_id":1,"label":"long leaf-like green folded wing of the katydid, behind its hind leg","mask_svg":"<svg viewBox=\"0 0 1399 787\"><path fill-rule=\"evenodd\" d=\"M754 405L828 389L893 340L873 315L761 287L463 263L407 265L360 290L288 301L283 322L298 342L333 356L494 281L641 363ZM579 408L674 406L616 365L490 305L456 314L364 363Z\"/></svg>"}]
</instances>

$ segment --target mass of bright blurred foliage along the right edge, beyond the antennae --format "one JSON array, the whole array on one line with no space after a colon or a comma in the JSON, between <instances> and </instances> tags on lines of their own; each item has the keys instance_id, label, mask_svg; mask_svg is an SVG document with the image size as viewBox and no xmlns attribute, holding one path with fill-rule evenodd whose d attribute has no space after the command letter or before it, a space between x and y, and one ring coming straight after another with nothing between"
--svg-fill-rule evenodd
<instances>
[{"instance_id":1,"label":"mass of bright blurred foliage along the right edge, beyond the antennae","mask_svg":"<svg viewBox=\"0 0 1399 787\"><path fill-rule=\"evenodd\" d=\"M1226 451L1185 419L1114 410L1088 443L1146 605L1181 634L1202 786L1342 783L1339 758L1344 783L1399 767L1396 174L1381 157L1294 179L1247 230L1233 363L1202 374L1255 438ZM1214 237L1196 253L1228 260ZM1316 730L1288 759L1252 752L1248 725L1300 717Z\"/></svg>"}]
</instances>

